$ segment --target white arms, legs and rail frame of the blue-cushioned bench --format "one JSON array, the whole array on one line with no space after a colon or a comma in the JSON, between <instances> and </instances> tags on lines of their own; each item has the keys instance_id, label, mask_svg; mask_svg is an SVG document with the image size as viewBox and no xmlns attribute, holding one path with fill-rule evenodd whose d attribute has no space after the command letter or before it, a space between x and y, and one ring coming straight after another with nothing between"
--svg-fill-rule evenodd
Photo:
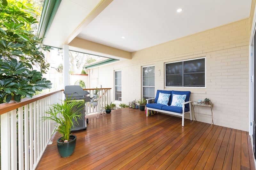
<instances>
[{"instance_id":1,"label":"white arms, legs and rail frame of the blue-cushioned bench","mask_svg":"<svg viewBox=\"0 0 256 170\"><path fill-rule=\"evenodd\" d=\"M146 99L147 100L147 104L148 104L148 101L149 100L153 100L153 99L156 99L156 98L151 98L151 99ZM187 101L185 103L182 103L182 113L175 113L175 112L169 112L169 111L165 111L165 110L159 110L159 109L154 109L154 108L150 108L150 107L147 107L147 117L148 117L148 109L149 110L154 110L154 111L157 111L157 112L163 112L163 113L167 113L169 115L177 115L177 116L181 116L182 117L182 126L184 126L184 114L185 113L189 113L190 114L190 120L192 121L192 114L191 114L191 102L192 101ZM185 110L185 104L188 104L189 103L189 112L184 112Z\"/></svg>"}]
</instances>

